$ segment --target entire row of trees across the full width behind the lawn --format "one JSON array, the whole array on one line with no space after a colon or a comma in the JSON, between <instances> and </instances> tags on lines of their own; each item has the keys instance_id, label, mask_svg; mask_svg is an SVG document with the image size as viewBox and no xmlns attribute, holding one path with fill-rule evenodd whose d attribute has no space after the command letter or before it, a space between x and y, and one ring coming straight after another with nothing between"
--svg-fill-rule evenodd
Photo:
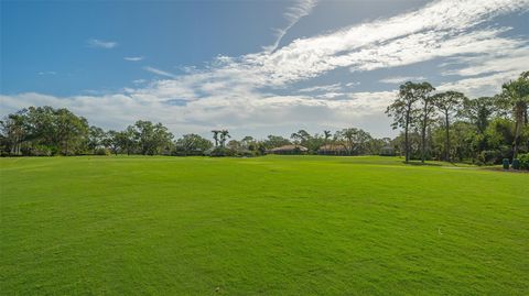
<instances>
[{"instance_id":1,"label":"entire row of trees across the full width behind the lawn","mask_svg":"<svg viewBox=\"0 0 529 296\"><path fill-rule=\"evenodd\" d=\"M174 140L162 123L139 120L122 131L105 131L65 108L30 107L0 121L0 153L256 156L298 144L309 154L333 154L326 152L339 147L339 155L402 155L406 162L501 163L529 151L528 86L526 72L504 84L496 96L471 99L457 91L435 91L429 83L408 81L386 110L392 128L401 129L393 139L347 128L315 134L299 130L290 138L261 140L250 135L235 140L228 130L213 130L213 141L194 133Z\"/></svg>"}]
</instances>

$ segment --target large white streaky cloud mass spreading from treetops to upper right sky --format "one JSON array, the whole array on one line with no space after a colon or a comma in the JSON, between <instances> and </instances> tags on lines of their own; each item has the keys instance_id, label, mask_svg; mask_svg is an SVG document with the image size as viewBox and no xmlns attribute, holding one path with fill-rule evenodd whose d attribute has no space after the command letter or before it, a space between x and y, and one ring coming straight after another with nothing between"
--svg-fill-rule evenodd
<instances>
[{"instance_id":1,"label":"large white streaky cloud mass spreading from treetops to upper right sky","mask_svg":"<svg viewBox=\"0 0 529 296\"><path fill-rule=\"evenodd\" d=\"M0 109L46 103L68 107L107 128L145 118L179 132L207 132L216 124L252 131L355 124L369 125L375 135L387 134L389 119L384 109L395 98L393 91L350 91L346 87L356 84L333 81L290 94L284 89L341 68L357 75L450 59L450 69L441 68L455 80L438 89L494 95L503 81L529 68L527 36L507 34L511 29L498 26L496 18L528 9L529 0L435 1L393 18L298 39L273 51L219 56L207 67L187 68L179 76L144 67L164 79L120 94L67 99L39 94L2 96ZM398 84L407 78L421 77L391 76L380 81ZM183 103L168 105L170 100Z\"/></svg>"}]
</instances>

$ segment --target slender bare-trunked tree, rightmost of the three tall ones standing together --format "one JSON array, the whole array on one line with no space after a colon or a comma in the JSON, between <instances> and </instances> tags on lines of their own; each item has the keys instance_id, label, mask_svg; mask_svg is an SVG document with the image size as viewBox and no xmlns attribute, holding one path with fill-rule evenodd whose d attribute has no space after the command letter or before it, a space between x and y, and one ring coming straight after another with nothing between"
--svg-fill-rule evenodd
<instances>
[{"instance_id":1,"label":"slender bare-trunked tree, rightmost of the three tall ones standing together","mask_svg":"<svg viewBox=\"0 0 529 296\"><path fill-rule=\"evenodd\" d=\"M444 143L444 160L450 162L450 122L453 114L456 114L463 100L465 99L465 95L457 92L457 91L445 91L440 92L433 96L433 105L438 108L438 110L443 114L444 119L444 129L446 132L445 143Z\"/></svg>"}]
</instances>

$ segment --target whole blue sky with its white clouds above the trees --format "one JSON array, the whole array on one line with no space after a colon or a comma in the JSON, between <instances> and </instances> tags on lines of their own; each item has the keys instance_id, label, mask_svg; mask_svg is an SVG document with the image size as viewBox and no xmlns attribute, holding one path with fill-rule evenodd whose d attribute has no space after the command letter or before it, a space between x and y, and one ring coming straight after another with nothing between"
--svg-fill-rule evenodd
<instances>
[{"instance_id":1,"label":"whole blue sky with its white clouds above the trees","mask_svg":"<svg viewBox=\"0 0 529 296\"><path fill-rule=\"evenodd\" d=\"M393 135L406 80L492 96L529 69L528 0L2 1L0 114L67 107L176 135Z\"/></svg>"}]
</instances>

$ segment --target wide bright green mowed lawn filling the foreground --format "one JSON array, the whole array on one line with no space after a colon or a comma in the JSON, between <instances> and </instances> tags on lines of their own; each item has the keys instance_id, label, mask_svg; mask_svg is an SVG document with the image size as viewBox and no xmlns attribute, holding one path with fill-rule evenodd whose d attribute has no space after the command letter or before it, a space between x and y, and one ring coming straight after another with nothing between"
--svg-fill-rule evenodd
<instances>
[{"instance_id":1,"label":"wide bright green mowed lawn filling the foreground","mask_svg":"<svg viewBox=\"0 0 529 296\"><path fill-rule=\"evenodd\" d=\"M2 158L3 295L529 295L529 174Z\"/></svg>"}]
</instances>

